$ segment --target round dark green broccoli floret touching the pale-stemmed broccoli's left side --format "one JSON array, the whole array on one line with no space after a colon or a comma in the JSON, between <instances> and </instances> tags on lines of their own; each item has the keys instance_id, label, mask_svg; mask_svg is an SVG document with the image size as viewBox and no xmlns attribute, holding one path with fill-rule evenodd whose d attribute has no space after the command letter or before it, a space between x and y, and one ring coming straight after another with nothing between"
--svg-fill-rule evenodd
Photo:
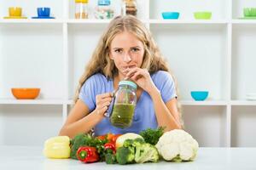
<instances>
[{"instance_id":1,"label":"round dark green broccoli floret touching the pale-stemmed broccoli's left side","mask_svg":"<svg viewBox=\"0 0 256 170\"><path fill-rule=\"evenodd\" d=\"M119 147L116 151L116 160L120 165L132 163L135 157L135 150L133 147Z\"/></svg>"}]
</instances>

